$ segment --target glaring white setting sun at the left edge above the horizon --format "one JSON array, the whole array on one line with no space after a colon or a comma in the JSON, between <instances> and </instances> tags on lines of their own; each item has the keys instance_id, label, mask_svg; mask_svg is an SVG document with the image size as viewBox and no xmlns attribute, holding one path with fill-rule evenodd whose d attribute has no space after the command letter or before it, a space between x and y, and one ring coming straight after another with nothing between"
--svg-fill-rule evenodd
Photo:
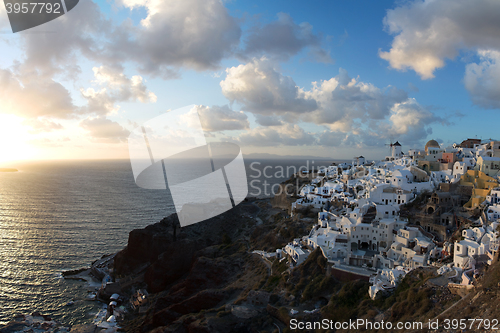
<instances>
[{"instance_id":1,"label":"glaring white setting sun at the left edge above the horizon","mask_svg":"<svg viewBox=\"0 0 500 333\"><path fill-rule=\"evenodd\" d=\"M29 133L22 122L23 119L15 115L0 114L0 166L34 155L34 148L27 142Z\"/></svg>"}]
</instances>

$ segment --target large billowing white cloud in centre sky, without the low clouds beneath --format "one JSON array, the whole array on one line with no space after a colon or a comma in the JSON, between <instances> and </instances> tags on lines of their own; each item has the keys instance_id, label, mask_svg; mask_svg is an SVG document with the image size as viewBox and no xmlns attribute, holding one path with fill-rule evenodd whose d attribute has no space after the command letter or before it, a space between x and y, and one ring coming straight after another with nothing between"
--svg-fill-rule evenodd
<instances>
[{"instance_id":1,"label":"large billowing white cloud in centre sky, without the low clouds beneath","mask_svg":"<svg viewBox=\"0 0 500 333\"><path fill-rule=\"evenodd\" d=\"M329 80L313 82L311 90L298 87L266 58L253 59L226 72L226 79L220 83L223 94L242 104L243 110L256 114L263 126L302 120L347 132L355 121L385 119L396 103L408 98L403 90L390 86L381 89L350 78L343 69Z\"/></svg>"}]
</instances>

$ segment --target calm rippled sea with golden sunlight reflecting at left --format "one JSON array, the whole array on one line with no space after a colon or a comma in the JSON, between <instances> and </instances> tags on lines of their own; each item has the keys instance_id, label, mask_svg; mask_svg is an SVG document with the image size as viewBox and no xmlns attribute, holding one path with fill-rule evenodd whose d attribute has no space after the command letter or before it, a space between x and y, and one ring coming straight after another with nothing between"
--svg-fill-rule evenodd
<instances>
[{"instance_id":1,"label":"calm rippled sea with golden sunlight reflecting at left","mask_svg":"<svg viewBox=\"0 0 500 333\"><path fill-rule=\"evenodd\" d=\"M249 196L272 196L298 170L332 162L245 159ZM138 187L128 160L8 167L19 172L0 173L0 324L35 311L68 326L90 323L102 308L88 298L93 287L62 272L120 251L131 230L174 213L170 192Z\"/></svg>"}]
</instances>

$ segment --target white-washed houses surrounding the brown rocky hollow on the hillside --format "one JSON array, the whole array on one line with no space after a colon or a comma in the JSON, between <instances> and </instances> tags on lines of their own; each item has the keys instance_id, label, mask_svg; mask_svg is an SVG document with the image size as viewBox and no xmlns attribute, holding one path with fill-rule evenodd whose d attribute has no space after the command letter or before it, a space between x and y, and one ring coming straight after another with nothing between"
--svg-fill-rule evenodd
<instances>
[{"instance_id":1,"label":"white-washed houses surrounding the brown rocky hollow on the hillside","mask_svg":"<svg viewBox=\"0 0 500 333\"><path fill-rule=\"evenodd\" d=\"M477 179L470 180L472 175ZM308 235L288 244L284 252L300 264L311 250L320 248L332 267L364 269L372 275L372 297L393 288L409 270L427 266L451 251L453 264L449 267L455 270L454 276L461 276L462 283L471 283L475 265L491 263L498 250L500 187L491 189L498 179L499 141L481 144L478 139L468 139L442 148L431 140L424 150L408 154L403 154L396 142L384 161L368 164L363 156L355 157L352 165L320 170L303 186L300 198L292 204L292 214L311 206L320 210L318 223ZM485 208L485 218L478 226L463 230L463 240L443 245L421 226L408 226L399 218L400 206L420 192L460 182L484 187L474 188L473 197L478 202L484 199L479 204Z\"/></svg>"}]
</instances>

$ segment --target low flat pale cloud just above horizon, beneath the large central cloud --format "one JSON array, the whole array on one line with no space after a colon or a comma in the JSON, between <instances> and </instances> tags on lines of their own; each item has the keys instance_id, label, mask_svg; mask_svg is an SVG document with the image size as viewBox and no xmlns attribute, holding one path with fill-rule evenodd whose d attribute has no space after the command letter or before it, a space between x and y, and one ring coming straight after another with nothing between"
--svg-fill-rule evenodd
<instances>
[{"instance_id":1,"label":"low flat pale cloud just above horizon, beneath the large central cloud","mask_svg":"<svg viewBox=\"0 0 500 333\"><path fill-rule=\"evenodd\" d=\"M316 142L313 134L305 132L298 125L280 127L258 127L242 134L238 141L243 146L300 146Z\"/></svg>"}]
</instances>

